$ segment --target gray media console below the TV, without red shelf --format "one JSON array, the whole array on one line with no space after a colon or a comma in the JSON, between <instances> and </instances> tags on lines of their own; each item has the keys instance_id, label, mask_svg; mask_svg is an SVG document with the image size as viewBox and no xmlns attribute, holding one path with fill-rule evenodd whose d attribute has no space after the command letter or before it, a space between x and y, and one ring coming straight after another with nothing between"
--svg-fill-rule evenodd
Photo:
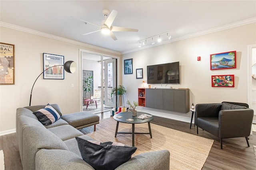
<instances>
[{"instance_id":1,"label":"gray media console below the TV, without red shelf","mask_svg":"<svg viewBox=\"0 0 256 170\"><path fill-rule=\"evenodd\" d=\"M188 113L189 89L146 89L146 107Z\"/></svg>"}]
</instances>

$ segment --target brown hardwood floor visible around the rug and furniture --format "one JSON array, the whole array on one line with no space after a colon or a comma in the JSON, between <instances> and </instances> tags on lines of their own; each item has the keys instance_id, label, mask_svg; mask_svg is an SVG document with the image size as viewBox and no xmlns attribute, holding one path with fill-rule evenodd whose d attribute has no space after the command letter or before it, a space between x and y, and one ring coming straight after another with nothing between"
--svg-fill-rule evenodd
<instances>
[{"instance_id":1,"label":"brown hardwood floor visible around the rug and furniture","mask_svg":"<svg viewBox=\"0 0 256 170\"><path fill-rule=\"evenodd\" d=\"M100 119L110 117L109 112L99 113L97 115L100 116ZM189 129L190 123L157 116L154 116L154 120L151 123L197 135L194 124L192 124L191 129ZM85 131L93 131L93 126L86 128L84 128ZM217 137L206 131L202 131L202 129L198 129L198 133L200 137L214 140L212 149L202 168L203 170L256 169L256 159L253 151L253 145L256 145L256 132L250 135L250 147L247 147L246 140L242 137L223 139L223 149L220 149L220 140ZM200 141L198 141L198 143L200 143ZM0 136L0 150L4 150L5 170L22 170L16 133Z\"/></svg>"}]
</instances>

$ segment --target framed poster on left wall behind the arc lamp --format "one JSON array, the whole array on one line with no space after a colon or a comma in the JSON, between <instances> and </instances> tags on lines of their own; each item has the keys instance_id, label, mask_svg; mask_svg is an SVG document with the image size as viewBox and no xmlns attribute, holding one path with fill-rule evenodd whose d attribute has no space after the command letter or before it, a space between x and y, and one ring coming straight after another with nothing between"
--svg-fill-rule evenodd
<instances>
[{"instance_id":1,"label":"framed poster on left wall behind the arc lamp","mask_svg":"<svg viewBox=\"0 0 256 170\"><path fill-rule=\"evenodd\" d=\"M47 53L43 55L44 79L64 79L64 56Z\"/></svg>"}]
</instances>

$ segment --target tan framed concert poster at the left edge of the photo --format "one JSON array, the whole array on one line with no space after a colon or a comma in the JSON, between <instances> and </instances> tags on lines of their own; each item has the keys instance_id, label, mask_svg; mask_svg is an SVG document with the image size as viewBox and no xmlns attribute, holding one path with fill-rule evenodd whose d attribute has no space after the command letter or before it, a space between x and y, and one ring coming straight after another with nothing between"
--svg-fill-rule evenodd
<instances>
[{"instance_id":1,"label":"tan framed concert poster at the left edge of the photo","mask_svg":"<svg viewBox=\"0 0 256 170\"><path fill-rule=\"evenodd\" d=\"M14 45L0 43L0 84L14 84Z\"/></svg>"}]
</instances>

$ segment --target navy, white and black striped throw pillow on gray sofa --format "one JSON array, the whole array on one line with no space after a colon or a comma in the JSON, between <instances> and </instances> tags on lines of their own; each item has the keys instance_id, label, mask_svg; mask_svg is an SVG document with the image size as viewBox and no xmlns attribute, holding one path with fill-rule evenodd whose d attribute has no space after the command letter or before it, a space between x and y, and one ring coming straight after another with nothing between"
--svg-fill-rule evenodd
<instances>
[{"instance_id":1,"label":"navy, white and black striped throw pillow on gray sofa","mask_svg":"<svg viewBox=\"0 0 256 170\"><path fill-rule=\"evenodd\" d=\"M50 104L47 104L43 109L35 111L34 115L43 125L51 125L60 119L60 114Z\"/></svg>"}]
</instances>

